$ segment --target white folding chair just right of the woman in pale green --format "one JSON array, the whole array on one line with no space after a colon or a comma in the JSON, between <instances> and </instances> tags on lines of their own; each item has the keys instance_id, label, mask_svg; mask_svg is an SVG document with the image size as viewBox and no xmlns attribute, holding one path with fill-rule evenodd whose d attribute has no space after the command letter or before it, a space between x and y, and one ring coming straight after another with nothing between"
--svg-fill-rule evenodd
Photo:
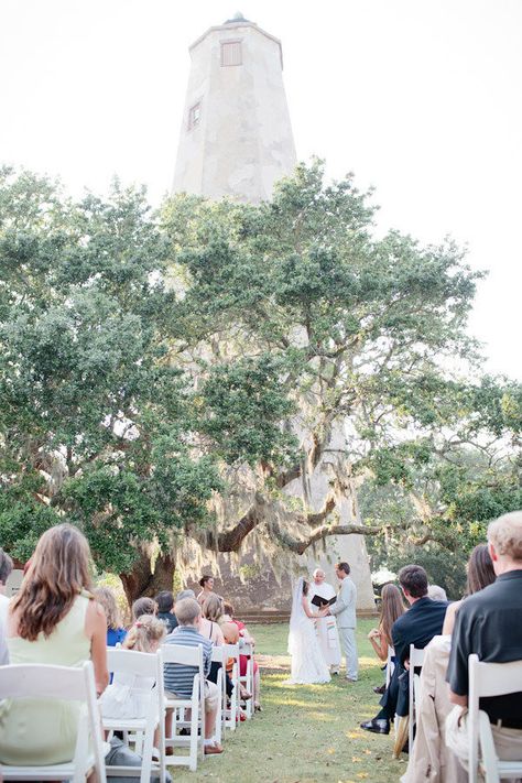
<instances>
[{"instance_id":1,"label":"white folding chair just right of the woman in pale green","mask_svg":"<svg viewBox=\"0 0 522 783\"><path fill-rule=\"evenodd\" d=\"M151 689L146 714L140 718L102 718L106 731L123 731L135 735L135 751L142 757L139 766L110 766L110 774L117 776L139 776L140 783L149 783L151 774L159 775L161 783L166 776L165 760L165 695L163 688L163 659L161 651L156 653L135 652L108 648L107 665L110 672L137 677L154 679ZM118 678L118 676L117 676ZM110 687L110 685L109 685ZM160 763L152 761L154 746L154 730L159 727L160 733Z\"/></svg>"}]
</instances>

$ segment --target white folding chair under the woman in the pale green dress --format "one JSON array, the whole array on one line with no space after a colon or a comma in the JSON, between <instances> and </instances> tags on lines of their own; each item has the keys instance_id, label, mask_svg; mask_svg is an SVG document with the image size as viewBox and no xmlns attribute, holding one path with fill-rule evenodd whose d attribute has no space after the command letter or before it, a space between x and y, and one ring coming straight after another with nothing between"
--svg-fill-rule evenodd
<instances>
[{"instance_id":1,"label":"white folding chair under the woman in the pale green dress","mask_svg":"<svg viewBox=\"0 0 522 783\"><path fill-rule=\"evenodd\" d=\"M0 666L0 698L80 702L76 748L70 761L42 766L2 764L3 781L72 781L85 783L96 770L106 783L104 741L96 702L95 670L90 661L83 666L12 664ZM59 727L56 726L56 731ZM90 740L90 741L89 741Z\"/></svg>"}]
</instances>

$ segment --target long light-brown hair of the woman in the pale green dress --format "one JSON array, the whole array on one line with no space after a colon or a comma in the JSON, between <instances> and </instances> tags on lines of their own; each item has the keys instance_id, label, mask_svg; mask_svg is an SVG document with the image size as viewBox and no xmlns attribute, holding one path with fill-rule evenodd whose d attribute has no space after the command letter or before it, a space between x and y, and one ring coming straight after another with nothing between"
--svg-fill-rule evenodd
<instances>
[{"instance_id":1,"label":"long light-brown hair of the woman in the pale green dress","mask_svg":"<svg viewBox=\"0 0 522 783\"><path fill-rule=\"evenodd\" d=\"M64 523L45 531L12 602L22 639L51 635L79 594L90 589L89 565L89 545L77 528Z\"/></svg>"}]
</instances>

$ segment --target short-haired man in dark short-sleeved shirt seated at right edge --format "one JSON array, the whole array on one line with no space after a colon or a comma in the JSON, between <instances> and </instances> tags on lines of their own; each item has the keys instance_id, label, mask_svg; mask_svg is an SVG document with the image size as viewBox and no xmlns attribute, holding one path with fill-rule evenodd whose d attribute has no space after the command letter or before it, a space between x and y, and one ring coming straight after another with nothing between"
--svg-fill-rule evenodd
<instances>
[{"instance_id":1,"label":"short-haired man in dark short-sleeved shirt seated at right edge","mask_svg":"<svg viewBox=\"0 0 522 783\"><path fill-rule=\"evenodd\" d=\"M446 742L463 763L468 758L468 656L476 653L486 663L522 660L522 511L490 523L488 547L497 579L463 601L447 672L450 699L457 706L446 721ZM503 761L522 759L521 704L522 692L480 699Z\"/></svg>"}]
</instances>

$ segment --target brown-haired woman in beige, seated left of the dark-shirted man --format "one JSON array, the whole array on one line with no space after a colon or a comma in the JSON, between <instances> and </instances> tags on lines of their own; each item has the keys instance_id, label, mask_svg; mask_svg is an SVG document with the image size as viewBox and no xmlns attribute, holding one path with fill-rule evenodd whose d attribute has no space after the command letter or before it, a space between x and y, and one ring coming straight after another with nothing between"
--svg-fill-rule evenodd
<instances>
[{"instance_id":1,"label":"brown-haired woman in beige, seated left of the dark-shirted man","mask_svg":"<svg viewBox=\"0 0 522 783\"><path fill-rule=\"evenodd\" d=\"M492 585L496 575L488 547L485 544L476 546L471 552L467 570L467 596ZM467 781L464 769L444 740L446 718L453 706L449 700L449 686L446 682L452 637L445 635L445 628L448 615L457 603L460 606L461 601L450 603L446 610L443 635L434 637L425 649L416 696L415 743L413 751L410 750L407 771L401 779L401 783L415 783L417 780L436 780L441 783L466 783ZM454 620L455 612L452 615L452 621Z\"/></svg>"}]
</instances>

